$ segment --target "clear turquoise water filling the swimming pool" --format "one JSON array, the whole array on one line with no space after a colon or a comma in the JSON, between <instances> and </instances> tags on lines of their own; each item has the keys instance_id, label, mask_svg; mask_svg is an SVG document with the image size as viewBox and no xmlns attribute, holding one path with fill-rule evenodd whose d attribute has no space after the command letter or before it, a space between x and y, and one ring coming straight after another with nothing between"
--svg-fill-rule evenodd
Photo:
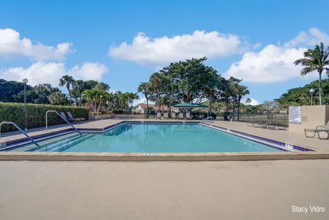
<instances>
[{"instance_id":1,"label":"clear turquoise water filling the swimming pool","mask_svg":"<svg viewBox=\"0 0 329 220\"><path fill-rule=\"evenodd\" d=\"M252 152L276 148L197 123L124 123L103 133L49 138L12 151L66 152Z\"/></svg>"}]
</instances>

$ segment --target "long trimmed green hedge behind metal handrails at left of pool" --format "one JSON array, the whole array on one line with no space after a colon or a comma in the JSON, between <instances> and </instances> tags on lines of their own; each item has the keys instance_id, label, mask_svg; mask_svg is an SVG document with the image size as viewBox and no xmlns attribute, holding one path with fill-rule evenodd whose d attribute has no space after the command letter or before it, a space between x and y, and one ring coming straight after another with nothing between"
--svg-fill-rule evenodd
<instances>
[{"instance_id":1,"label":"long trimmed green hedge behind metal handrails at left of pool","mask_svg":"<svg viewBox=\"0 0 329 220\"><path fill-rule=\"evenodd\" d=\"M46 125L47 110L56 110L58 112L71 112L75 118L85 118L88 120L88 109L72 106L51 106L27 104L27 128L44 127ZM24 103L3 103L0 102L0 122L13 121L22 129L24 123ZM58 125L65 123L55 112L48 113L48 125ZM2 125L1 132L14 131L16 128L12 125Z\"/></svg>"}]
</instances>

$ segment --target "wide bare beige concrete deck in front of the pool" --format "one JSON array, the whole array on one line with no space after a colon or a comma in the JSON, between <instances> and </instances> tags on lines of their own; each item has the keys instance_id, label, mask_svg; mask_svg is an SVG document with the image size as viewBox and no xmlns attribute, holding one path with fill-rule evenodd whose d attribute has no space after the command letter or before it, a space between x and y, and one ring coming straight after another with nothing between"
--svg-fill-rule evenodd
<instances>
[{"instance_id":1,"label":"wide bare beige concrete deck in front of the pool","mask_svg":"<svg viewBox=\"0 0 329 220\"><path fill-rule=\"evenodd\" d=\"M328 219L329 160L0 161L0 219ZM325 212L292 212L292 206Z\"/></svg>"}]
</instances>

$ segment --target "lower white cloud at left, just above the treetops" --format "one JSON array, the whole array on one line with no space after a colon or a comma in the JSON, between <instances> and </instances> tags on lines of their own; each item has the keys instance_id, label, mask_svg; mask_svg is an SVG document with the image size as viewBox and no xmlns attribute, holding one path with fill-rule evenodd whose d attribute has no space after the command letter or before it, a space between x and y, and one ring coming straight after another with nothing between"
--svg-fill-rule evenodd
<instances>
[{"instance_id":1,"label":"lower white cloud at left, just above the treetops","mask_svg":"<svg viewBox=\"0 0 329 220\"><path fill-rule=\"evenodd\" d=\"M74 66L66 71L63 62L38 61L27 68L0 69L0 78L15 81L27 78L28 84L32 86L43 83L58 86L59 79L63 75L71 75L76 80L101 80L102 75L107 71L107 66L93 62L85 62L82 66Z\"/></svg>"}]
</instances>

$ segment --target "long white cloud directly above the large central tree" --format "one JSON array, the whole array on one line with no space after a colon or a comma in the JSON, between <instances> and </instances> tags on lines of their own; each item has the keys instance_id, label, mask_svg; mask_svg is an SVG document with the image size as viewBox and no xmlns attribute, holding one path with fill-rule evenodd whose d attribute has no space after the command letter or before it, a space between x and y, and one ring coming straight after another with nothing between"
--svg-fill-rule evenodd
<instances>
[{"instance_id":1,"label":"long white cloud directly above the large central tree","mask_svg":"<svg viewBox=\"0 0 329 220\"><path fill-rule=\"evenodd\" d=\"M112 58L129 60L138 64L167 64L188 58L226 57L243 53L249 48L236 34L220 34L219 32L195 31L169 38L150 38L140 32L132 41L112 46L108 55Z\"/></svg>"}]
</instances>

